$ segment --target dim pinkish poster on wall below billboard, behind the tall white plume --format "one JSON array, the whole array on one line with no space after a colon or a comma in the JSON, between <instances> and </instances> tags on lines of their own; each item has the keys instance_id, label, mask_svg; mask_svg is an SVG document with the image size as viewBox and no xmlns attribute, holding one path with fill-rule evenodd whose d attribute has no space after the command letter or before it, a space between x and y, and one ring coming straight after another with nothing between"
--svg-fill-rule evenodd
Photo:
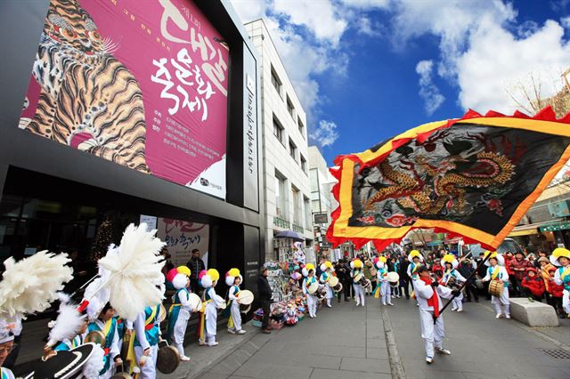
<instances>
[{"instance_id":1,"label":"dim pinkish poster on wall below billboard, behind the tall white plume","mask_svg":"<svg viewBox=\"0 0 570 379\"><path fill-rule=\"evenodd\" d=\"M166 242L175 266L182 266L190 261L193 249L199 249L201 258L208 265L207 224L159 217L157 228L157 237Z\"/></svg>"}]
</instances>

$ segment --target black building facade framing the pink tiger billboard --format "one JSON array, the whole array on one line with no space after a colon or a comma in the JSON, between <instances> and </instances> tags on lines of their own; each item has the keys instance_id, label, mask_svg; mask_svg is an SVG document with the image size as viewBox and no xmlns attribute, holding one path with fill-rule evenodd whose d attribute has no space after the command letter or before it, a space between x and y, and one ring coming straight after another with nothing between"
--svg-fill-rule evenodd
<instances>
[{"instance_id":1,"label":"black building facade framing the pink tiger billboard","mask_svg":"<svg viewBox=\"0 0 570 379\"><path fill-rule=\"evenodd\" d=\"M230 52L225 200L21 130L22 102L49 1L0 4L0 260L43 249L76 250L79 261L93 270L102 222L113 224L118 243L128 223L151 215L207 224L208 266L222 277L239 268L244 286L255 292L265 259L259 59L229 2L194 3L225 37Z\"/></svg>"}]
</instances>

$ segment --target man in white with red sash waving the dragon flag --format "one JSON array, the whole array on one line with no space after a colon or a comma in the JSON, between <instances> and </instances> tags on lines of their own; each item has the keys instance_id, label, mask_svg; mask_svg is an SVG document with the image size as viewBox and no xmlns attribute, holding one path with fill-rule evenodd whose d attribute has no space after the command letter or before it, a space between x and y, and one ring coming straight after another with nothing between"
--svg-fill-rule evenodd
<instances>
[{"instance_id":1,"label":"man in white with red sash waving the dragon flag","mask_svg":"<svg viewBox=\"0 0 570 379\"><path fill-rule=\"evenodd\" d=\"M422 266L414 276L414 288L416 298L419 302L419 321L421 326L421 337L424 339L426 347L426 362L434 361L434 353L451 355L451 351L444 349L443 342L445 336L444 318L440 311L444 307L442 297L449 299L458 290L450 290L445 286L440 286L437 280L430 276L427 267ZM434 322L435 321L435 322Z\"/></svg>"}]
</instances>

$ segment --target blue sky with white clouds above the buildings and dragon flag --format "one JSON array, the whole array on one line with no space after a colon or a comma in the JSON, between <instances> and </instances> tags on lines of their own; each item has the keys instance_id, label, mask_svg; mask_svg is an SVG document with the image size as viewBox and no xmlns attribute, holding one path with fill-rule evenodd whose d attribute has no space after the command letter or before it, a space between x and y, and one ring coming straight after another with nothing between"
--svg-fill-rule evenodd
<instances>
[{"instance_id":1,"label":"blue sky with white clouds above the buildings and dragon flag","mask_svg":"<svg viewBox=\"0 0 570 379\"><path fill-rule=\"evenodd\" d=\"M525 92L557 93L570 68L570 0L232 4L265 19L330 165L468 108L530 112Z\"/></svg>"}]
</instances>

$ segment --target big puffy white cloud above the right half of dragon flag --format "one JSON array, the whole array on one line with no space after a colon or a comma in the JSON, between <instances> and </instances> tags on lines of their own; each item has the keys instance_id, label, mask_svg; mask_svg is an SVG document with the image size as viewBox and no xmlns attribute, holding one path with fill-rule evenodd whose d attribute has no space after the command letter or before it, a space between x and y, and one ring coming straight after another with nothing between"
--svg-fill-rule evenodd
<instances>
[{"instance_id":1,"label":"big puffy white cloud above the right half of dragon flag","mask_svg":"<svg viewBox=\"0 0 570 379\"><path fill-rule=\"evenodd\" d=\"M548 20L525 38L496 24L483 25L457 62L460 104L482 112L511 113L517 108L511 95L528 106L521 85L533 90L533 78L536 87L541 87L539 97L550 97L559 90L559 75L569 64L570 46L556 21Z\"/></svg>"}]
</instances>

